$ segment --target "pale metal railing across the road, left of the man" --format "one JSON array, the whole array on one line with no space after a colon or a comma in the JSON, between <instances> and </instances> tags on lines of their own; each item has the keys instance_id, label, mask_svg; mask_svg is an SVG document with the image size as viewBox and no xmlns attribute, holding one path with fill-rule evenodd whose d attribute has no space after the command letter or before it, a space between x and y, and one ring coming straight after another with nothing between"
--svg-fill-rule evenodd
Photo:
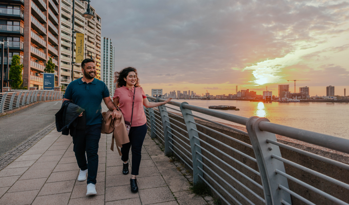
<instances>
[{"instance_id":1,"label":"pale metal railing across the road, left of the man","mask_svg":"<svg viewBox=\"0 0 349 205\"><path fill-rule=\"evenodd\" d=\"M0 93L0 113L36 101L63 99L64 92L53 90L23 90Z\"/></svg>"}]
</instances>

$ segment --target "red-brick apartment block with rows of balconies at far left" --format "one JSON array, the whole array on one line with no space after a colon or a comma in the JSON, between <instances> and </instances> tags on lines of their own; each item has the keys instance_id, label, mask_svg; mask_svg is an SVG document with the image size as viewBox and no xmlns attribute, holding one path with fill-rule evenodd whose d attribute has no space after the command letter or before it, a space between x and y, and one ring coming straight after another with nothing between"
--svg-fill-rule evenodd
<instances>
[{"instance_id":1,"label":"red-brick apartment block with rows of balconies at far left","mask_svg":"<svg viewBox=\"0 0 349 205\"><path fill-rule=\"evenodd\" d=\"M0 40L9 42L9 62L5 52L4 73L7 72L7 63L10 67L12 56L19 55L23 63L23 86L43 89L42 73L47 61L52 58L56 73L55 86L58 85L59 13L58 0L0 2Z\"/></svg>"}]
</instances>

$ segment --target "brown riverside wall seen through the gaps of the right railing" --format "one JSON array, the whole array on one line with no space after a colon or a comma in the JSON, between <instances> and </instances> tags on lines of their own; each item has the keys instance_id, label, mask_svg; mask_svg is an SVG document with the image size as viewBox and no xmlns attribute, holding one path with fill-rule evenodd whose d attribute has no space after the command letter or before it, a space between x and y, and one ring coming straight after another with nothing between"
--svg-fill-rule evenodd
<instances>
[{"instance_id":1,"label":"brown riverside wall seen through the gaps of the right railing","mask_svg":"<svg viewBox=\"0 0 349 205\"><path fill-rule=\"evenodd\" d=\"M171 114L169 114L171 115ZM179 113L176 113L176 115L181 115ZM184 120L172 115L171 118L180 121L182 123L184 123ZM161 120L161 119L160 119ZM183 129L185 129L185 127L183 127L183 125L180 125L178 122L171 120L170 121L172 123L174 123L175 125L177 125L178 127L181 127ZM248 144L251 144L249 136L248 135L244 135L238 132L235 132L233 130L224 128L222 126L216 125L214 123L210 123L201 119L197 119L195 118L195 122L204 125L206 127L209 127L211 129L214 129L218 132L221 132L223 134L226 134L228 136L231 136L235 139L238 139L240 141L246 142ZM227 124L228 125L228 124ZM231 127L235 127L241 130L246 131L245 127L240 127L240 126L235 126L235 125L229 125ZM188 137L188 135L183 132L183 130L180 130L179 128L176 128L174 126L171 126L171 128L173 128L174 130L176 130L177 132L181 133L182 135ZM197 126L197 129L202 132L207 134L210 137L213 137L214 139L223 142L225 144L227 144L228 146L235 148L253 158L255 158L254 156L254 152L253 149L251 148L247 148L245 146L243 146L242 144L239 144L233 140L230 140L222 135L216 134L214 132L211 132L210 130L204 129L202 127ZM172 132L174 133L174 132ZM176 136L178 136L181 140L185 141L186 143L189 144L189 141L184 139L184 137L178 135L177 133L174 133ZM221 144L214 142L210 139L208 139L207 137L199 134L200 139L209 142L212 146L218 148L221 151L224 151L224 153L227 153L229 156L234 157L235 159L237 159L240 162L243 162L244 164L246 164L247 166L251 167L252 169L259 171L258 170L258 165L257 163L249 160L248 158L236 153L235 151L228 149L224 146L222 146ZM186 146L184 143L180 142L179 140L175 139L174 137L172 137L174 140L176 140L176 142L178 142L179 144L181 144L183 147L185 147L188 151L190 151L190 148L188 146ZM341 153L335 150L331 150L331 149L327 149L327 148L323 148L323 147L319 147L319 146L315 146L313 144L309 144L309 143L305 143L302 141L298 141L298 140L293 140L290 139L288 137L284 137L284 136L280 136L280 135L276 135L277 141L280 143L284 143L284 144L288 144L289 146L293 146L299 149L303 149L306 151L309 151L311 153L314 154L318 154L321 156L325 156L328 158L331 158L333 160L337 160L343 163L347 163L349 164L349 155L345 154L345 153ZM159 141L162 142L162 140L159 139ZM173 143L174 145L177 146L177 143ZM227 162L228 164L230 164L232 167L236 168L237 170L241 171L243 174L247 175L249 178L251 178L253 181L261 184L261 179L258 175L254 174L252 171L244 168L242 165L232 161L230 158L225 157L224 155L220 154L218 151L214 150L213 148L210 148L209 146L207 146L204 143L200 144L203 148L207 149L208 151L210 151L211 153L213 153L214 155L218 156L219 158L221 158L224 162ZM180 147L180 146L177 146ZM190 155L188 155L186 153L186 151L184 151L182 148L180 148L181 151L187 155L187 157L191 158ZM176 151L176 149L174 149ZM288 150L288 149L284 149L284 148L280 148L281 151L281 155L283 158L293 161L295 163L298 163L300 165L303 165L304 167L310 168L312 170L318 171L322 174L325 174L327 176L330 176L332 178L335 178L339 181L342 181L344 183L349 184L349 170L345 170L339 167L336 167L334 165L316 160L314 158L310 158L307 157L305 155L302 154L298 154L294 151ZM181 154L179 151L176 151L178 154L181 155L181 157L183 158L183 160L186 160L189 164L191 164L191 162L188 161L187 157L183 156L183 154ZM191 151L190 151L191 152ZM238 174L236 171L233 171L231 168L227 167L226 165L224 165L222 162L220 162L219 160L217 160L216 158L214 158L213 156L207 154L205 151L202 150L202 154L204 156L206 156L209 160L211 160L212 162L216 163L219 167L221 167L224 171L228 172L228 174L230 174L232 177L236 178L238 181L242 182L244 185L246 185L249 189L251 189L252 191L254 191L255 193L257 193L260 197L264 198L263 195L263 190L258 188L256 185L254 185L253 183L251 183L250 181L248 181L246 178L242 177L240 174ZM253 196L250 192L248 192L245 188L243 188L242 186L240 186L238 183L236 183L235 181L233 181L233 179L231 179L230 177L228 177L227 175L225 175L221 170L219 170L218 168L216 168L214 165L212 165L210 162L208 162L207 160L203 159L203 163L205 163L206 165L208 165L208 167L210 169L212 169L213 171L215 171L218 175L220 175L225 181L227 181L229 184L231 184L235 189L237 189L239 192L241 192L244 196L246 196L248 199L250 199L254 204L256 205L262 205L264 203L261 202L261 200L259 200L257 197ZM187 170L192 171L185 163L183 163L183 165L186 166ZM321 179L319 177L316 177L314 175L311 175L307 172L304 172L300 169L297 169L291 165L288 164L284 164L285 166L285 171L287 174L307 183L310 184L312 186L314 186L315 188L318 188L322 191L325 191L327 193L329 193L330 195L337 197L341 200L343 200L346 203L349 203L349 190L342 188L341 186L337 186L333 183L329 183L328 181ZM223 186L226 190L231 190L231 188L229 188L228 185L224 184L217 176L215 176L212 172L210 172L206 167L203 167L203 170L205 170L216 182L219 182L221 186ZM220 194L228 200L229 203L231 204L235 204L235 202L233 201L233 199L231 199L227 193L225 193L224 191L222 191L208 176L204 175L204 178L210 182L210 184L216 189L219 190ZM309 189L305 189L303 186L298 185L290 180L288 180L288 185L290 190L296 192L297 194L299 194L300 196L303 196L304 198L310 200L311 202L313 202L314 204L323 204L323 205L332 205L332 204L336 204L334 202L332 202L331 200L328 200L325 197L322 197L320 195L318 195L317 193L309 190ZM213 192L213 191L212 191ZM214 192L213 192L214 193ZM242 204L249 204L246 200L244 200L242 197L240 197L236 192L232 191L230 192L231 195L233 197L235 197L236 199L238 199ZM215 195L215 193L214 193ZM217 195L215 195L216 197L218 197ZM221 200L222 204L225 204L223 200ZM304 204L302 201L300 201L299 199L292 197L292 204Z\"/></svg>"}]
</instances>

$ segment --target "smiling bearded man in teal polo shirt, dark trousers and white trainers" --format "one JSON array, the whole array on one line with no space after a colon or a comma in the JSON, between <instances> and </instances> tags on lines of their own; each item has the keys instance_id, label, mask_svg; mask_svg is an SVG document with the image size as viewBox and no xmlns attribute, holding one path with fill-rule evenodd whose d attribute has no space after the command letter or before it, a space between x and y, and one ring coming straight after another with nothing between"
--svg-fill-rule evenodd
<instances>
[{"instance_id":1,"label":"smiling bearded man in teal polo shirt, dark trousers and white trainers","mask_svg":"<svg viewBox=\"0 0 349 205\"><path fill-rule=\"evenodd\" d=\"M68 85L63 101L72 100L75 105L85 110L83 113L86 118L86 128L76 129L76 135L73 137L74 153L80 168L77 180L85 181L88 172L86 195L95 195L97 194L95 184L98 169L98 142L102 128L102 99L108 109L113 111L113 118L121 116L118 116L120 114L114 109L116 107L109 97L109 90L105 83L95 79L95 61L86 58L82 61L81 68L83 77Z\"/></svg>"}]
</instances>

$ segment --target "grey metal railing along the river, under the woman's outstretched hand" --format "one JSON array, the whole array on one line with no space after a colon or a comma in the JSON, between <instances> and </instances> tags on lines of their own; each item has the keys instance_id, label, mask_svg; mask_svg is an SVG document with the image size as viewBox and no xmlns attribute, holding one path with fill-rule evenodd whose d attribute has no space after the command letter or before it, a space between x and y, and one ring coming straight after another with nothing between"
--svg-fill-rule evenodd
<instances>
[{"instance_id":1,"label":"grey metal railing along the river, under the woman's outstretched hand","mask_svg":"<svg viewBox=\"0 0 349 205\"><path fill-rule=\"evenodd\" d=\"M144 113L151 138L161 140L165 154L177 156L192 172L193 183L206 183L225 204L349 203L348 139L186 102L171 101L157 109L144 107ZM211 120L212 117L246 129ZM300 144L281 143L275 134ZM300 149L307 143L320 150L341 152L338 156L347 157L342 160L346 163L341 162L341 157L337 161L329 154L312 152L313 148Z\"/></svg>"}]
</instances>

